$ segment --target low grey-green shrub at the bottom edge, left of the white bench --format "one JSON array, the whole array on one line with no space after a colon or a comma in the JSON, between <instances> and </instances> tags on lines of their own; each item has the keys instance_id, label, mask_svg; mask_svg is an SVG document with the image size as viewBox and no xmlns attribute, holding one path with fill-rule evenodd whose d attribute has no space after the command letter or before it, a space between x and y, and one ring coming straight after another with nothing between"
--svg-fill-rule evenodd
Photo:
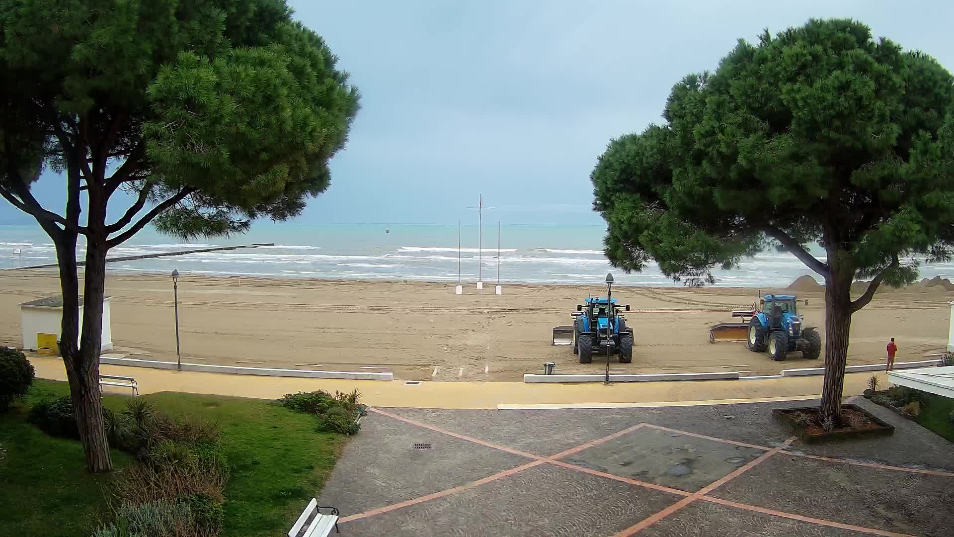
<instances>
[{"instance_id":1,"label":"low grey-green shrub at the bottom edge, left of the white bench","mask_svg":"<svg viewBox=\"0 0 954 537\"><path fill-rule=\"evenodd\" d=\"M93 537L185 536L195 534L193 526L189 505L156 500L122 505L116 509L114 521L97 529Z\"/></svg>"}]
</instances>

